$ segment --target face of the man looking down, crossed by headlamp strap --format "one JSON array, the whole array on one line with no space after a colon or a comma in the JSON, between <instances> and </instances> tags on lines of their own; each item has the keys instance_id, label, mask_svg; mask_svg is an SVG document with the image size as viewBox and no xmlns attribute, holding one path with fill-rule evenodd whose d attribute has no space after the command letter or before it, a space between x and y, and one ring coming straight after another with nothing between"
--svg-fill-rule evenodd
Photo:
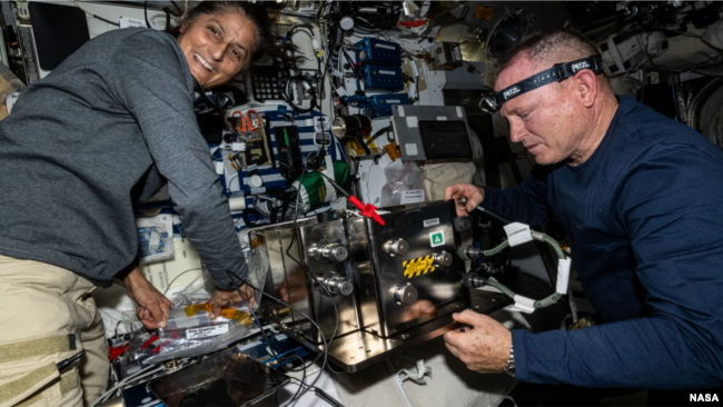
<instances>
[{"instance_id":1,"label":"face of the man looking down, crossed by headlamp strap","mask_svg":"<svg viewBox=\"0 0 723 407\"><path fill-rule=\"evenodd\" d=\"M524 54L502 71L495 91L505 89L545 69ZM509 121L509 138L522 142L538 165L557 163L571 158L585 138L590 109L576 103L574 78L549 83L505 102L499 113Z\"/></svg>"}]
</instances>

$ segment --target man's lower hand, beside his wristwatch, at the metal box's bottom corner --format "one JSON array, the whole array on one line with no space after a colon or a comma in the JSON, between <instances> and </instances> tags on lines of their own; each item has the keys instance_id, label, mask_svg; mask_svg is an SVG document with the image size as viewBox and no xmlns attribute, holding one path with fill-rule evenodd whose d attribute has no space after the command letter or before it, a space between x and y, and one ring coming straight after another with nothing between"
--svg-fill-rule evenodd
<instances>
[{"instance_id":1,"label":"man's lower hand, beside his wristwatch, at the metal box's bottom corner","mask_svg":"<svg viewBox=\"0 0 723 407\"><path fill-rule=\"evenodd\" d=\"M452 355L471 370L482 374L504 371L509 359L512 332L496 320L471 310L454 314L453 318L472 328L445 334L444 341Z\"/></svg>"}]
</instances>

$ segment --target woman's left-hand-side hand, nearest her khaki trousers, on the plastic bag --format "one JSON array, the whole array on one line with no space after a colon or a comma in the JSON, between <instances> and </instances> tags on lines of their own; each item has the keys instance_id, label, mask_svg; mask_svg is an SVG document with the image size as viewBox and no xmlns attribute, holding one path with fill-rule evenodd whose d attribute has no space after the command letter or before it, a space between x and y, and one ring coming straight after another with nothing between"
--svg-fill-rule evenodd
<instances>
[{"instance_id":1,"label":"woman's left-hand-side hand, nearest her khaki trousers, on the plastic bag","mask_svg":"<svg viewBox=\"0 0 723 407\"><path fill-rule=\"evenodd\" d=\"M164 328L168 320L171 302L151 285L138 266L122 279L128 290L128 296L138 304L136 315L148 329Z\"/></svg>"}]
</instances>

